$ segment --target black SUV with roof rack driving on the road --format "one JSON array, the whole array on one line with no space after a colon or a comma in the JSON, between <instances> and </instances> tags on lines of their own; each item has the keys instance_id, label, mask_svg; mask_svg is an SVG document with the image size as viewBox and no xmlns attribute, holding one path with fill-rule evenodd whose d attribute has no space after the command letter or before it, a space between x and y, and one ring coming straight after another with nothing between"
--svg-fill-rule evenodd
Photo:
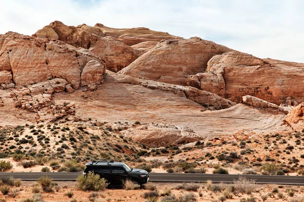
<instances>
[{"instance_id":1,"label":"black SUV with roof rack driving on the road","mask_svg":"<svg viewBox=\"0 0 304 202\"><path fill-rule=\"evenodd\" d=\"M106 179L111 185L122 184L127 179L136 184L145 184L149 180L149 173L145 170L130 168L125 163L119 162L104 162L93 161L86 164L87 168L84 175L89 171L100 175L101 178Z\"/></svg>"}]
</instances>

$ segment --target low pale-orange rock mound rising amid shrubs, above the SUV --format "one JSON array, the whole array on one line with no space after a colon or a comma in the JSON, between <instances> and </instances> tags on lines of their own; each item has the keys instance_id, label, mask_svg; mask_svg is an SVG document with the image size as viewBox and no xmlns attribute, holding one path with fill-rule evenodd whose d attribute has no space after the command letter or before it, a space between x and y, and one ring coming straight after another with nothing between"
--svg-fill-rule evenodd
<instances>
[{"instance_id":1,"label":"low pale-orange rock mound rising amid shrubs, above the SUV","mask_svg":"<svg viewBox=\"0 0 304 202\"><path fill-rule=\"evenodd\" d=\"M121 133L149 146L177 145L201 139L190 128L170 124L143 124Z\"/></svg>"}]
</instances>

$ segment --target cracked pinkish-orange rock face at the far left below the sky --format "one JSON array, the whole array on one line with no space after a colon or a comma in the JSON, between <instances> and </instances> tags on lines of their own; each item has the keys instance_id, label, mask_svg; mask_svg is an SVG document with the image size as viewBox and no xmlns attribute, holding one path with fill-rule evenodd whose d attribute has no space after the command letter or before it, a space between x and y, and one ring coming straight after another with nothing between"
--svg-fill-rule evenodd
<instances>
[{"instance_id":1,"label":"cracked pinkish-orange rock face at the far left below the sky","mask_svg":"<svg viewBox=\"0 0 304 202\"><path fill-rule=\"evenodd\" d=\"M81 85L85 65L100 58L84 49L77 49L62 41L30 37L8 32L0 35L2 67L10 67L16 85L29 85L53 78L65 79L74 89Z\"/></svg>"}]
</instances>

